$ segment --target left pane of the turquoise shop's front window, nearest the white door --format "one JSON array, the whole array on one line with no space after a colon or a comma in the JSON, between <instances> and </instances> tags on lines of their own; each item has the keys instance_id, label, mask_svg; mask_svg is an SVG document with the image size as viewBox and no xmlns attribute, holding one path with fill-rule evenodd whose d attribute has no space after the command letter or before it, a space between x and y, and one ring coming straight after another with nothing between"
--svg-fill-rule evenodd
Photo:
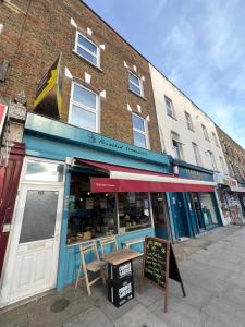
<instances>
[{"instance_id":1,"label":"left pane of the turquoise shop's front window, nearest the white door","mask_svg":"<svg viewBox=\"0 0 245 327\"><path fill-rule=\"evenodd\" d=\"M89 178L72 175L68 244L118 233L113 193L90 193Z\"/></svg>"}]
</instances>

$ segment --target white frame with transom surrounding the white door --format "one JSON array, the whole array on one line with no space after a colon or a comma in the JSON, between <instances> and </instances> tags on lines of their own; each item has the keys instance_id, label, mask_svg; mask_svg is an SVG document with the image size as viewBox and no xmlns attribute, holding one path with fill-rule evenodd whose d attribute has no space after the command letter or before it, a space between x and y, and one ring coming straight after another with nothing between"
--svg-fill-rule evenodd
<instances>
[{"instance_id":1,"label":"white frame with transom surrounding the white door","mask_svg":"<svg viewBox=\"0 0 245 327\"><path fill-rule=\"evenodd\" d=\"M64 173L63 173L63 181L62 182L39 182L39 181L25 181L25 173L27 169L27 164L29 160L35 160L39 162L51 162L51 164L63 164L64 165ZM14 261L16 258L16 253L17 253L17 246L19 246L19 239L20 239L20 232L21 232L21 227L22 223L19 226L19 222L23 222L23 214L17 215L17 209L19 209L19 204L21 201L26 201L26 195L28 190L44 190L44 191L57 191L59 192L58 196L58 207L57 207L57 221L56 221L56 227L57 223L58 230L56 233L56 237L59 237L54 241L57 242L57 249L56 249L56 256L57 256L57 267L56 267L56 283L57 284L57 276L58 276L58 269L59 269L59 251L60 251L60 239L61 239L61 227L62 227L62 213L63 213L63 201L64 201L64 182L65 182L65 162L64 161L57 161L57 160L49 160L45 158L36 158L36 157L25 157L24 159L24 165L21 173L21 179L20 179L20 184L19 184L19 191L17 191L17 196L15 201L15 206L14 206L14 213L13 213L13 220L10 229L10 237L9 237L9 242L8 242L8 247L7 247L7 254L5 254L5 259L3 264L3 274L1 276L0 280L0 307L7 306L11 303L17 302L20 300L24 299L16 299L14 301L10 301L10 292L11 292L11 282L9 281L10 278L12 277L13 270L14 270ZM48 288L51 289L51 288ZM44 289L44 292L47 291L47 289ZM38 291L36 294L41 293L41 291ZM35 296L35 293L29 296ZM26 296L27 299L28 296Z\"/></svg>"}]
</instances>

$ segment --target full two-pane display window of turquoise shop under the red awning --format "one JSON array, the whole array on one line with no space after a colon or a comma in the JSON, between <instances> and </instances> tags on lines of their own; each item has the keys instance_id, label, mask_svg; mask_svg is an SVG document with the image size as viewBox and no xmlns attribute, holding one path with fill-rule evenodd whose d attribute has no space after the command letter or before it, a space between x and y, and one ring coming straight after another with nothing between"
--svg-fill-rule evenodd
<instances>
[{"instance_id":1,"label":"full two-pane display window of turquoise shop under the red awning","mask_svg":"<svg viewBox=\"0 0 245 327\"><path fill-rule=\"evenodd\" d=\"M71 174L68 244L151 227L149 193L90 193L89 185L89 175Z\"/></svg>"}]
</instances>

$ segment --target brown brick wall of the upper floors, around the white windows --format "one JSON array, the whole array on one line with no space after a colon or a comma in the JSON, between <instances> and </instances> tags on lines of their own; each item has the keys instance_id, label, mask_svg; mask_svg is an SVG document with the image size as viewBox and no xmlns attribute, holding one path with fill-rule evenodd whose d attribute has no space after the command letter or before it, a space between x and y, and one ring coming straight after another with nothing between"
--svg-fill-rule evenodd
<instances>
[{"instance_id":1,"label":"brown brick wall of the upper floors, around the white windows","mask_svg":"<svg viewBox=\"0 0 245 327\"><path fill-rule=\"evenodd\" d=\"M0 93L14 97L24 89L27 107L32 110L38 80L61 51L62 68L68 66L73 76L83 80L87 72L91 75L91 86L107 92L106 99L101 99L101 133L133 144L132 113L126 110L126 104L136 113L139 105L142 116L149 114L150 118L151 149L160 152L148 62L78 0L33 0L29 8L27 0L12 0L12 3L23 12L0 2L0 21L4 24L0 36L0 60L10 60L7 81L0 84ZM101 50L102 71L72 52L75 28L70 24L71 17L85 32L87 27L93 29L95 43L106 45L106 50ZM128 71L124 61L131 69L137 66L138 76L145 76L145 99L128 90ZM63 77L62 121L68 121L70 90L71 81Z\"/></svg>"}]
</instances>

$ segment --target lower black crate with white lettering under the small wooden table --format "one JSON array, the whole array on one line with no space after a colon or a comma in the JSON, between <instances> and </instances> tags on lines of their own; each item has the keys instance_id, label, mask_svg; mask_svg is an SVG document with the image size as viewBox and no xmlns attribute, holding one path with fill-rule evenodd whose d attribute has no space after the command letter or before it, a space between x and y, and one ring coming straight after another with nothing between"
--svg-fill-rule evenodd
<instances>
[{"instance_id":1,"label":"lower black crate with white lettering under the small wooden table","mask_svg":"<svg viewBox=\"0 0 245 327\"><path fill-rule=\"evenodd\" d=\"M108 282L108 300L120 307L134 298L134 280L133 278L124 278L124 280Z\"/></svg>"}]
</instances>

